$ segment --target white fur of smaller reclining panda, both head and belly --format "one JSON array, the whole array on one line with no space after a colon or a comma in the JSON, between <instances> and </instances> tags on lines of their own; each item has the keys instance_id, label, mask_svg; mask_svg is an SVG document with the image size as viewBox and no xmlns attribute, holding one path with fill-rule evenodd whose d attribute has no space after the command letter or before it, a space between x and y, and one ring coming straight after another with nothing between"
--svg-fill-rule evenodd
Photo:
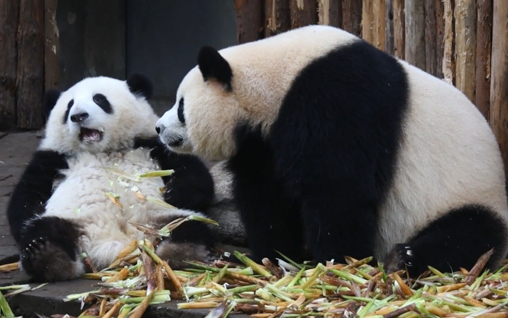
<instances>
[{"instance_id":1,"label":"white fur of smaller reclining panda, both head and belly","mask_svg":"<svg viewBox=\"0 0 508 318\"><path fill-rule=\"evenodd\" d=\"M93 102L92 97L97 93L106 96L112 105L112 114ZM72 99L74 105L69 116L88 112L84 125L104 131L101 142L85 144L78 137L79 124L70 119L63 124L63 115ZM160 169L150 158L149 149L126 149L132 147L134 137L156 136L157 119L144 97L133 95L125 81L109 77L91 77L78 82L60 95L50 113L40 149L66 153L71 158L69 168L62 171L65 177L54 182L54 192L46 203L45 213L37 218L57 216L78 224L83 233L78 247L88 253L98 268L113 262L126 244L144 237L130 222L160 228L178 217L201 215L143 201L131 190L136 186L144 196L164 200L158 189L164 186L161 178L142 178L134 182L118 179L118 175L104 169L113 168L134 175ZM114 205L106 192L118 194L123 209ZM75 273L69 275L76 276L83 270L82 266L76 266L72 270Z\"/></svg>"}]
</instances>

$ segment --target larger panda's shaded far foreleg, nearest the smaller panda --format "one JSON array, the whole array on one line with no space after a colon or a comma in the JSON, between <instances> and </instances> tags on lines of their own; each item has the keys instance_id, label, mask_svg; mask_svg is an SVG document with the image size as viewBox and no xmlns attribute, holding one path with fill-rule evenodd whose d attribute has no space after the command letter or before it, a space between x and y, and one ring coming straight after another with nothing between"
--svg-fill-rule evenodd
<instances>
[{"instance_id":1,"label":"larger panda's shaded far foreleg, nearest the smaller panda","mask_svg":"<svg viewBox=\"0 0 508 318\"><path fill-rule=\"evenodd\" d=\"M290 197L274 174L271 151L259 131L240 126L238 138L242 147L229 160L233 172L232 193L242 222L252 258L276 261L282 254L295 262L303 255L303 229L298 197Z\"/></svg>"}]
</instances>

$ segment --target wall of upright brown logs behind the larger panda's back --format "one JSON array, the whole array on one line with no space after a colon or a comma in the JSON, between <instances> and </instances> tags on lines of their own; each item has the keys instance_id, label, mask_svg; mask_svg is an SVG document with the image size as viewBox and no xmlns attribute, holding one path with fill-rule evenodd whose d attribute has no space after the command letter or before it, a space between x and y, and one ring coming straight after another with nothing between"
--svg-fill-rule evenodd
<instances>
[{"instance_id":1,"label":"wall of upright brown logs behind the larger panda's back","mask_svg":"<svg viewBox=\"0 0 508 318\"><path fill-rule=\"evenodd\" d=\"M455 85L491 124L508 171L507 0L249 1L264 8L263 37L308 24L338 26ZM248 12L238 19L263 15Z\"/></svg>"}]
</instances>

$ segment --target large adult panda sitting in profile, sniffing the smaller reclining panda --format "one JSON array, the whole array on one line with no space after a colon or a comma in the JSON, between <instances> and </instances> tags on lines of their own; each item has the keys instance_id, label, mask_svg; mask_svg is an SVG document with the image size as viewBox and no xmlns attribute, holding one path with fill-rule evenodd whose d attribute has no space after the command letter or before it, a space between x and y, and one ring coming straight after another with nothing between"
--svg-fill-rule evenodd
<instances>
[{"instance_id":1,"label":"large adult panda sitting in profile, sniffing the smaller reclining panda","mask_svg":"<svg viewBox=\"0 0 508 318\"><path fill-rule=\"evenodd\" d=\"M157 122L178 153L228 160L255 258L374 256L389 272L507 252L496 139L452 85L339 28L203 47Z\"/></svg>"}]
</instances>

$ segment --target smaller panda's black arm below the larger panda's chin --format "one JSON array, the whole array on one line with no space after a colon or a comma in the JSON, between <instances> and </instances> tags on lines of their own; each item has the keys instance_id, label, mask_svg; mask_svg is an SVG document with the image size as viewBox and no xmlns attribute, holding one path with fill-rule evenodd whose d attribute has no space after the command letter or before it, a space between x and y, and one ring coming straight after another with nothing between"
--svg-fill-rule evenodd
<instances>
[{"instance_id":1,"label":"smaller panda's black arm below the larger panda's chin","mask_svg":"<svg viewBox=\"0 0 508 318\"><path fill-rule=\"evenodd\" d=\"M157 160L161 169L174 169L173 175L163 177L167 203L180 208L204 212L214 195L214 184L210 171L196 156L168 151L157 137L136 139L135 148L152 149L151 158Z\"/></svg>"}]
</instances>

